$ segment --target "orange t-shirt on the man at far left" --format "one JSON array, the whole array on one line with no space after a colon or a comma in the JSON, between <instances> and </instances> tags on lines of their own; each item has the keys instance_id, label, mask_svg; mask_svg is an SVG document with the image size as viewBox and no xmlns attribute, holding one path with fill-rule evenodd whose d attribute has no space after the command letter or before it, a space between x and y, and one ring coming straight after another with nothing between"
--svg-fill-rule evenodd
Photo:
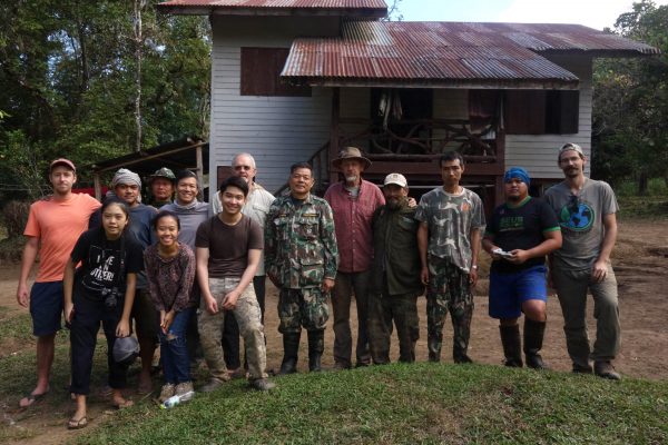
<instances>
[{"instance_id":1,"label":"orange t-shirt on the man at far left","mask_svg":"<svg viewBox=\"0 0 668 445\"><path fill-rule=\"evenodd\" d=\"M65 265L79 236L88 229L90 215L100 208L100 202L86 194L59 201L52 198L36 201L23 235L39 238L39 270L36 281L61 281Z\"/></svg>"}]
</instances>

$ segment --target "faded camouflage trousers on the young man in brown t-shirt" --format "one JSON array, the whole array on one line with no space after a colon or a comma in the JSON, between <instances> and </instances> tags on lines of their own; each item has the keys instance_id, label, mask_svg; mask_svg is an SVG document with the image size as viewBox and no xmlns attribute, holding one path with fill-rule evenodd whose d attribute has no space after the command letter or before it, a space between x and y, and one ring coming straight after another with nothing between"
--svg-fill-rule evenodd
<instances>
[{"instance_id":1,"label":"faded camouflage trousers on the young man in brown t-shirt","mask_svg":"<svg viewBox=\"0 0 668 445\"><path fill-rule=\"evenodd\" d=\"M218 304L218 313L209 314L206 310L205 299L202 298L197 316L197 327L204 358L212 373L212 377L218 380L229 379L223 356L223 346L220 345L220 338L225 328L225 310L222 309L223 299L238 283L239 278L209 278L209 289ZM261 322L261 310L257 298L255 298L253 283L239 296L236 308L232 313L239 326L239 334L244 338L249 379L267 378L267 352L265 347L264 326Z\"/></svg>"}]
</instances>

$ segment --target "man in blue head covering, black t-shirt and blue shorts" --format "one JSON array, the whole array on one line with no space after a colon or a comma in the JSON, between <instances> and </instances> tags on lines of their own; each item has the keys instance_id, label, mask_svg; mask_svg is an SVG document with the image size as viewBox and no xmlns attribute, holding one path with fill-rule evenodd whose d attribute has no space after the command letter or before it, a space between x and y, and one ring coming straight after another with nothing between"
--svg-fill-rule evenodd
<instances>
[{"instance_id":1,"label":"man in blue head covering, black t-shirt and blue shorts","mask_svg":"<svg viewBox=\"0 0 668 445\"><path fill-rule=\"evenodd\" d=\"M518 325L523 313L527 366L547 369L539 354L547 320L546 255L561 247L561 229L552 208L529 196L527 170L513 167L503 181L505 204L494 210L482 240L492 256L489 313L500 320L505 366L523 366Z\"/></svg>"}]
</instances>

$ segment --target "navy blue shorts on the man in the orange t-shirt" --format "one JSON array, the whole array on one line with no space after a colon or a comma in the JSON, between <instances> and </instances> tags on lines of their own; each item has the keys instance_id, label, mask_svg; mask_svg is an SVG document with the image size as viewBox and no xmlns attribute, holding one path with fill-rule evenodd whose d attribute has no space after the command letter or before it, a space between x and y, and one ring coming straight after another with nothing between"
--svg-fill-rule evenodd
<instances>
[{"instance_id":1,"label":"navy blue shorts on the man in the orange t-shirt","mask_svg":"<svg viewBox=\"0 0 668 445\"><path fill-rule=\"evenodd\" d=\"M30 290L32 334L43 337L60 330L62 281L36 283Z\"/></svg>"}]
</instances>

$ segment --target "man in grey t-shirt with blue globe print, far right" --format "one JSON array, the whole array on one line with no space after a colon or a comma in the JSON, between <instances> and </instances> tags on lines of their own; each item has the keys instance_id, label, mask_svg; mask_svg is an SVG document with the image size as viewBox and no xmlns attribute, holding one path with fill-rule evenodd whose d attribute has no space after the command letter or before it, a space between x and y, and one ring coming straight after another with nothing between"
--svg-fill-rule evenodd
<instances>
[{"instance_id":1,"label":"man in grey t-shirt with blue globe print, far right","mask_svg":"<svg viewBox=\"0 0 668 445\"><path fill-rule=\"evenodd\" d=\"M573 373L617 380L612 360L621 343L617 280L610 254L617 239L619 207L612 188L584 176L587 157L577 144L559 149L566 180L546 192L557 214L563 245L551 255L551 277L563 313L566 346ZM593 297L597 332L593 349L587 334L587 291ZM593 369L590 360L593 360Z\"/></svg>"}]
</instances>

